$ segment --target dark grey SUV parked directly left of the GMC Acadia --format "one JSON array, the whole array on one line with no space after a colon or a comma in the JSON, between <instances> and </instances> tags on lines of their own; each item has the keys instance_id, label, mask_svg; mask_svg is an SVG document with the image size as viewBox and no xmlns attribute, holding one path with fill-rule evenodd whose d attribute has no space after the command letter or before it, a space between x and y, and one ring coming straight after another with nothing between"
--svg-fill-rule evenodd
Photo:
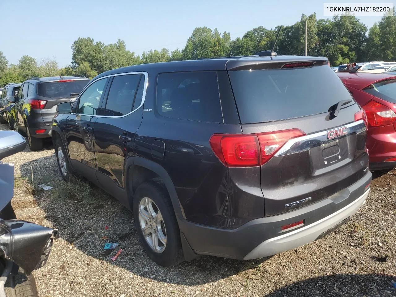
<instances>
[{"instance_id":1,"label":"dark grey SUV parked directly left of the GMC Acadia","mask_svg":"<svg viewBox=\"0 0 396 297\"><path fill-rule=\"evenodd\" d=\"M14 125L26 133L31 150L43 147L43 138L51 137L52 118L62 102L72 102L89 79L82 76L31 77L23 82L13 106Z\"/></svg>"}]
</instances>

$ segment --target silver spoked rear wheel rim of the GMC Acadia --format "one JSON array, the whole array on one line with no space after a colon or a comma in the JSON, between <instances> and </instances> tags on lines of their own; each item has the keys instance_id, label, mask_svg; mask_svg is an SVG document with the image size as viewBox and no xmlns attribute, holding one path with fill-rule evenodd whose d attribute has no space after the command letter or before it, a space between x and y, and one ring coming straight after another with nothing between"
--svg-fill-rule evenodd
<instances>
[{"instance_id":1,"label":"silver spoked rear wheel rim of the GMC Acadia","mask_svg":"<svg viewBox=\"0 0 396 297\"><path fill-rule=\"evenodd\" d=\"M146 242L156 253L166 247L166 228L158 206L145 197L139 203L139 223Z\"/></svg>"}]
</instances>

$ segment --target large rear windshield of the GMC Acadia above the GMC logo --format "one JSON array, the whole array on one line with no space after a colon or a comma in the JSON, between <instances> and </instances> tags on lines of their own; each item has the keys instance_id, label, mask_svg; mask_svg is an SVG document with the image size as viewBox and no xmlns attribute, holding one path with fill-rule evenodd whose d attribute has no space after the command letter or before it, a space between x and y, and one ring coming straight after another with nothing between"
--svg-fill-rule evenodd
<instances>
[{"instance_id":1,"label":"large rear windshield of the GMC Acadia above the GMC logo","mask_svg":"<svg viewBox=\"0 0 396 297\"><path fill-rule=\"evenodd\" d=\"M238 70L228 74L242 124L328 112L339 101L352 99L337 74L327 66ZM354 103L352 99L349 105Z\"/></svg>"}]
</instances>

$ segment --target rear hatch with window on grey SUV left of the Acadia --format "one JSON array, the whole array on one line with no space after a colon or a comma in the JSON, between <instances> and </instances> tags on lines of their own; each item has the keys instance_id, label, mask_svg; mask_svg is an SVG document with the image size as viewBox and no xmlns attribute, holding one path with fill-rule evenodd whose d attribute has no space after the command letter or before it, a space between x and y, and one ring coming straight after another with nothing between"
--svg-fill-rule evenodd
<instances>
[{"instance_id":1,"label":"rear hatch with window on grey SUV left of the Acadia","mask_svg":"<svg viewBox=\"0 0 396 297\"><path fill-rule=\"evenodd\" d=\"M44 123L47 126L51 125L52 119L57 113L57 105L67 101L74 102L88 82L88 79L61 79L38 83L38 99L46 101L44 109L40 110Z\"/></svg>"}]
</instances>

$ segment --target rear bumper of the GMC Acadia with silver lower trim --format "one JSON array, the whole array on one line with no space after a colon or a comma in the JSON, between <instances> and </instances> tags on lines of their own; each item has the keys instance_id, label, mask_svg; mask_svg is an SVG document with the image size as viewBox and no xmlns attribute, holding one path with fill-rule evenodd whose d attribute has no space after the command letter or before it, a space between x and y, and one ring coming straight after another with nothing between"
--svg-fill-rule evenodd
<instances>
[{"instance_id":1,"label":"rear bumper of the GMC Acadia with silver lower trim","mask_svg":"<svg viewBox=\"0 0 396 297\"><path fill-rule=\"evenodd\" d=\"M368 171L362 179L326 199L281 215L254 219L232 230L180 219L179 227L196 254L246 260L267 257L315 241L343 225L366 202L370 183ZM300 227L282 230L282 226L300 221L304 222Z\"/></svg>"}]
</instances>

